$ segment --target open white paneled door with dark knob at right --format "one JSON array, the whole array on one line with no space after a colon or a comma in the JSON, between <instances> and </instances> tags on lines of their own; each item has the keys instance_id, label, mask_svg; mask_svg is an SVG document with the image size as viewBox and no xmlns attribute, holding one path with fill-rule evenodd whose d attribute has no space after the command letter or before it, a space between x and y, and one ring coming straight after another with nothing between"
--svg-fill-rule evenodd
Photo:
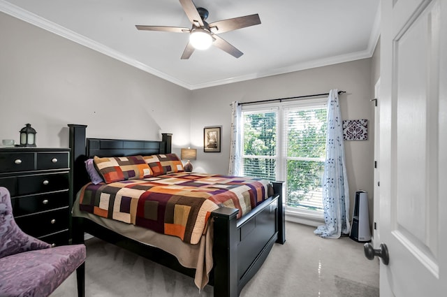
<instances>
[{"instance_id":1,"label":"open white paneled door with dark knob at right","mask_svg":"<svg viewBox=\"0 0 447 297\"><path fill-rule=\"evenodd\" d=\"M381 1L381 297L447 296L447 1Z\"/></svg>"}]
</instances>

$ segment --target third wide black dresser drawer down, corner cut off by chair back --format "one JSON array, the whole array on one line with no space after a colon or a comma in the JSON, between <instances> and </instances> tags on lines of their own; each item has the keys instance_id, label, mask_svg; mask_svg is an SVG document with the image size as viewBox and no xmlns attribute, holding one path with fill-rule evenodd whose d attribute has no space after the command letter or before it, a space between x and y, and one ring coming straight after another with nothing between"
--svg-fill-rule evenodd
<instances>
[{"instance_id":1,"label":"third wide black dresser drawer down, corner cut off by chair back","mask_svg":"<svg viewBox=\"0 0 447 297\"><path fill-rule=\"evenodd\" d=\"M68 215L67 206L59 210L15 217L15 221L24 233L34 237L41 237L68 229Z\"/></svg>"}]
</instances>

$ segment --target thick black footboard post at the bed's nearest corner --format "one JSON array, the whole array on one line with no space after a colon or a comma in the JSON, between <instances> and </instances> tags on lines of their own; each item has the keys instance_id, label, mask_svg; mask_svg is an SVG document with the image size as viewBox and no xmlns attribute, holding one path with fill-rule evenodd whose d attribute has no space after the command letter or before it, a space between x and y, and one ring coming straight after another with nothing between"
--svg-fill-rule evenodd
<instances>
[{"instance_id":1,"label":"thick black footboard post at the bed's nearest corner","mask_svg":"<svg viewBox=\"0 0 447 297\"><path fill-rule=\"evenodd\" d=\"M219 208L214 219L214 297L237 297L237 212L235 208Z\"/></svg>"}]
</instances>

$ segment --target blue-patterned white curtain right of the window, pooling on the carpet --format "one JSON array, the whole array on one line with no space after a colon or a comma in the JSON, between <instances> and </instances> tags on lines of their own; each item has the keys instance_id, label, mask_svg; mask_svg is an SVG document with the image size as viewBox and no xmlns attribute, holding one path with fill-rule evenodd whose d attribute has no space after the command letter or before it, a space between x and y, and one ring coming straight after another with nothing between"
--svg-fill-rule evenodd
<instances>
[{"instance_id":1,"label":"blue-patterned white curtain right of the window, pooling on the carpet","mask_svg":"<svg viewBox=\"0 0 447 297\"><path fill-rule=\"evenodd\" d=\"M315 234L323 238L339 238L349 234L349 187L346 175L343 143L343 121L338 90L331 89L328 96L328 136L323 174L323 226Z\"/></svg>"}]
</instances>

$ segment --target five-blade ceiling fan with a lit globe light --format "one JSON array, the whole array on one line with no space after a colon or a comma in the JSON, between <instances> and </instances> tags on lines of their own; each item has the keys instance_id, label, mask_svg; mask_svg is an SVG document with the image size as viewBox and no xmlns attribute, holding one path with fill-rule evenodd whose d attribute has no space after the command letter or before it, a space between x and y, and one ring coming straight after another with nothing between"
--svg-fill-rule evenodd
<instances>
[{"instance_id":1,"label":"five-blade ceiling fan with a lit globe light","mask_svg":"<svg viewBox=\"0 0 447 297\"><path fill-rule=\"evenodd\" d=\"M175 33L189 33L189 43L184 49L181 59L189 59L195 49L205 50L210 45L214 45L221 50L228 52L233 57L239 58L244 55L240 50L237 50L233 45L230 45L227 41L223 40L219 33L233 31L244 27L254 26L255 24L261 24L259 15L245 15L244 17L234 17L228 20L221 20L208 24L205 20L208 17L208 10L205 8L196 8L196 5L192 0L179 0L182 4L183 10L186 13L189 21L192 24L192 28L182 27L165 27L165 26L143 26L135 25L138 30L147 31L167 31Z\"/></svg>"}]
</instances>

